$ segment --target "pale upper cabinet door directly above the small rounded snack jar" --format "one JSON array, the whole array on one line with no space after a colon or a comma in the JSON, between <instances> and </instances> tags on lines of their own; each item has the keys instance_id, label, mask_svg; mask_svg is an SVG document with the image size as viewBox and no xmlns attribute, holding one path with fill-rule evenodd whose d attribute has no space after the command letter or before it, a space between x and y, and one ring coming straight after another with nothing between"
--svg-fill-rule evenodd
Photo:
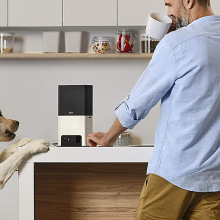
<instances>
[{"instance_id":1,"label":"pale upper cabinet door directly above the small rounded snack jar","mask_svg":"<svg viewBox=\"0 0 220 220\"><path fill-rule=\"evenodd\" d=\"M117 0L63 0L63 26L117 26Z\"/></svg>"}]
</instances>

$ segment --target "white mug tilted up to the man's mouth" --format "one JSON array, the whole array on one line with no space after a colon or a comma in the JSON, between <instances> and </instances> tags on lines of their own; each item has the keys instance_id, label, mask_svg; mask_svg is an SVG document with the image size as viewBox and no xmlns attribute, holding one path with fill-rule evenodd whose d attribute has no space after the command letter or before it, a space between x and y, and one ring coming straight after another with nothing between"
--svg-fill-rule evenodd
<instances>
[{"instance_id":1,"label":"white mug tilted up to the man's mouth","mask_svg":"<svg viewBox=\"0 0 220 220\"><path fill-rule=\"evenodd\" d=\"M146 34L154 39L161 40L169 30L172 19L161 13L151 13L148 17Z\"/></svg>"}]
</instances>

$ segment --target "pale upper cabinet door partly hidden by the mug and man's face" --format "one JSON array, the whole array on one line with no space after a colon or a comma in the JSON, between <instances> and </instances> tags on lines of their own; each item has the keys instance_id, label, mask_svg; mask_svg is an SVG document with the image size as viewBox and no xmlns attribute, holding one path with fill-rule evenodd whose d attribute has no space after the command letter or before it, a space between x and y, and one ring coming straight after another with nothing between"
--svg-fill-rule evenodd
<instances>
[{"instance_id":1,"label":"pale upper cabinet door partly hidden by the mug and man's face","mask_svg":"<svg viewBox=\"0 0 220 220\"><path fill-rule=\"evenodd\" d=\"M150 13L167 14L164 1L161 0L118 0L119 26L146 26Z\"/></svg>"}]
</instances>

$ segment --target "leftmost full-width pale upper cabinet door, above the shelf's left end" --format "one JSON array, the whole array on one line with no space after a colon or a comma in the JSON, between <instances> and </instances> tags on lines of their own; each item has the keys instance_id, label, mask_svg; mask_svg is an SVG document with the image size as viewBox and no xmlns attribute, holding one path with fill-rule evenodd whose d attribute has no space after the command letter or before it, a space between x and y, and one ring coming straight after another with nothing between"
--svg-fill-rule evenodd
<instances>
[{"instance_id":1,"label":"leftmost full-width pale upper cabinet door, above the shelf's left end","mask_svg":"<svg viewBox=\"0 0 220 220\"><path fill-rule=\"evenodd\" d=\"M62 0L8 0L8 26L62 26Z\"/></svg>"}]
</instances>

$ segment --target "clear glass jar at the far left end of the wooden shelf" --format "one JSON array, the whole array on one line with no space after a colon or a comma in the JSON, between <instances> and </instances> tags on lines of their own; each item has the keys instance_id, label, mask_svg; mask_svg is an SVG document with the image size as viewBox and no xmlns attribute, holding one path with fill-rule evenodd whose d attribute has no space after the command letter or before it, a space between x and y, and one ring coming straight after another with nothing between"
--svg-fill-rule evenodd
<instances>
[{"instance_id":1,"label":"clear glass jar at the far left end of the wooden shelf","mask_svg":"<svg viewBox=\"0 0 220 220\"><path fill-rule=\"evenodd\" d=\"M1 33L1 53L13 53L14 33Z\"/></svg>"}]
</instances>

